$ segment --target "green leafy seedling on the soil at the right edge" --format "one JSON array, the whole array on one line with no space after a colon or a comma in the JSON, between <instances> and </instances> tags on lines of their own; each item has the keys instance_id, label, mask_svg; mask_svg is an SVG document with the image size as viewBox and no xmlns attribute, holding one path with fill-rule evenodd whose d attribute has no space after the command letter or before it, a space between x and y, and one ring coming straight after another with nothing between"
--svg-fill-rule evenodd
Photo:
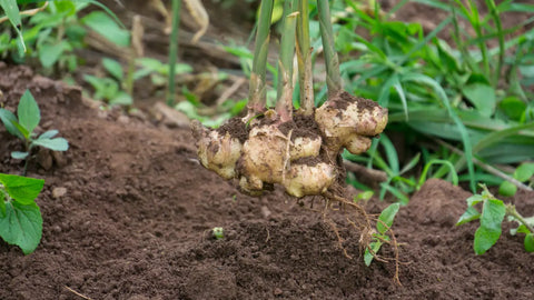
<instances>
[{"instance_id":1,"label":"green leafy seedling on the soil at the right edge","mask_svg":"<svg viewBox=\"0 0 534 300\"><path fill-rule=\"evenodd\" d=\"M517 222L520 226L511 230L511 234L525 233L524 247L527 252L534 252L534 217L522 217L515 206L505 204L502 200L496 199L486 188L482 186L481 194L469 197L467 201L467 210L459 217L456 226L461 226L474 220L481 220L481 226L475 232L474 250L476 254L485 253L498 240L502 233L502 222L507 216L507 221ZM482 203L482 213L475 208Z\"/></svg>"}]
</instances>

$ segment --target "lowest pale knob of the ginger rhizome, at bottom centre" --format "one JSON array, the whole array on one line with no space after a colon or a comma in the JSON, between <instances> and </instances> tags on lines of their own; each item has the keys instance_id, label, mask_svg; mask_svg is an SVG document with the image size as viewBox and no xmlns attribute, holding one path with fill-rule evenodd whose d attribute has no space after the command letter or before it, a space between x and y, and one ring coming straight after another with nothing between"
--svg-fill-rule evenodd
<instances>
[{"instance_id":1,"label":"lowest pale knob of the ginger rhizome, at bottom centre","mask_svg":"<svg viewBox=\"0 0 534 300\"><path fill-rule=\"evenodd\" d=\"M336 179L332 164L319 162L315 166L293 164L284 180L286 192L294 197L324 193Z\"/></svg>"}]
</instances>

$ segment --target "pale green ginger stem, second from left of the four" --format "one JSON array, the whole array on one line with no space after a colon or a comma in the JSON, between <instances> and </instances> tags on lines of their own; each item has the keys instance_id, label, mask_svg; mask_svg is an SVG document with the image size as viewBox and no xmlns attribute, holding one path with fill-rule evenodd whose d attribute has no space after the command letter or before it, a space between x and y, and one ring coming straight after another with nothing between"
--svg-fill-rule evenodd
<instances>
[{"instance_id":1,"label":"pale green ginger stem, second from left of the four","mask_svg":"<svg viewBox=\"0 0 534 300\"><path fill-rule=\"evenodd\" d=\"M283 122L293 117L293 60L295 58L295 28L298 12L295 11L298 0L286 0L284 7L284 26L278 60L278 84L276 111Z\"/></svg>"}]
</instances>

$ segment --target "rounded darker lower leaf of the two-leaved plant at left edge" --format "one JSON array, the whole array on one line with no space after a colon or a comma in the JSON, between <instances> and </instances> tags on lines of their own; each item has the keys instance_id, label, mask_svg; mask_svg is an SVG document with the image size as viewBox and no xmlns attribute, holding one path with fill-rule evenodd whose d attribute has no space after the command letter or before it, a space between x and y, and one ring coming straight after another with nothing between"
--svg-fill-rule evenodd
<instances>
[{"instance_id":1,"label":"rounded darker lower leaf of the two-leaved plant at left edge","mask_svg":"<svg viewBox=\"0 0 534 300\"><path fill-rule=\"evenodd\" d=\"M41 241L42 217L39 207L31 202L22 204L11 201L6 204L6 216L0 219L0 237L17 244L24 254L36 250Z\"/></svg>"}]
</instances>

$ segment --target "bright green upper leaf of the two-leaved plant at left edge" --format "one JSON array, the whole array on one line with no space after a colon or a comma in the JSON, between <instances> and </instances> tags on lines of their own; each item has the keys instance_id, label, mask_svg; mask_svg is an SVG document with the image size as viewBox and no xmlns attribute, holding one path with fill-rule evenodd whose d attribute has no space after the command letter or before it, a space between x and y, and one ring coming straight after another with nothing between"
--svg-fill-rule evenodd
<instances>
[{"instance_id":1,"label":"bright green upper leaf of the two-leaved plant at left edge","mask_svg":"<svg viewBox=\"0 0 534 300\"><path fill-rule=\"evenodd\" d=\"M21 204L33 203L44 186L44 180L42 179L13 174L0 174L0 182L9 197Z\"/></svg>"}]
</instances>

